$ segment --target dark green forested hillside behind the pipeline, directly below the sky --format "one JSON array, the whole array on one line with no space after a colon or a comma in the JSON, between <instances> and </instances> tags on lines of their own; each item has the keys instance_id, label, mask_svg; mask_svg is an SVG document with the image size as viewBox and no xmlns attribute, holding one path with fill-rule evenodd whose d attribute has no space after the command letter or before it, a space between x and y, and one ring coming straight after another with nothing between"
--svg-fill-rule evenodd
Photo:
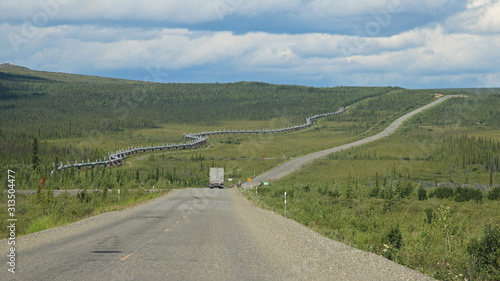
<instances>
[{"instance_id":1,"label":"dark green forested hillside behind the pipeline, directly below the sky","mask_svg":"<svg viewBox=\"0 0 500 281\"><path fill-rule=\"evenodd\" d=\"M331 112L393 87L312 88L261 82L150 83L0 65L0 129L15 139L82 137L167 123L216 124ZM71 128L71 129L69 129Z\"/></svg>"}]
</instances>

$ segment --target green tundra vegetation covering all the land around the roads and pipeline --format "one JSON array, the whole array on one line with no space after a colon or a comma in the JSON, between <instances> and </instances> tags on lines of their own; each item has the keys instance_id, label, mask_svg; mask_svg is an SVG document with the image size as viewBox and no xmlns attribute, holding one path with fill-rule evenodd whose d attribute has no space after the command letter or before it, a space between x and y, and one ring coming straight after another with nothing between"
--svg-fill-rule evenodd
<instances>
[{"instance_id":1,"label":"green tundra vegetation covering all the land around the roads and pipeline","mask_svg":"<svg viewBox=\"0 0 500 281\"><path fill-rule=\"evenodd\" d=\"M0 66L0 182L16 172L18 234L120 210L171 188L205 187L210 167L233 183L289 158L374 135L442 94L386 139L332 154L246 195L351 246L442 280L499 278L500 91L311 88L257 82L159 84ZM336 111L287 134L209 138L197 150L156 151L120 167L67 169L183 133L274 129ZM43 183L45 179L45 183ZM227 180L226 180L227 182ZM150 193L153 186L160 192ZM54 190L78 189L54 196ZM120 197L118 197L120 189ZM119 199L120 198L120 199ZM7 210L0 193L0 208ZM7 214L0 212L0 235Z\"/></svg>"}]
</instances>

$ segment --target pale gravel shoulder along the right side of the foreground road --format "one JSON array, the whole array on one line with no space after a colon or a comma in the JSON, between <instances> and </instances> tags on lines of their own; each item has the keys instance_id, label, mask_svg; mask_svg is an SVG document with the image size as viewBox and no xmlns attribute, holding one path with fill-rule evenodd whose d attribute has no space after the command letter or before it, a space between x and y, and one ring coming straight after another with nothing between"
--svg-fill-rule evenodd
<instances>
[{"instance_id":1,"label":"pale gravel shoulder along the right side of the foreground road","mask_svg":"<svg viewBox=\"0 0 500 281\"><path fill-rule=\"evenodd\" d=\"M236 212L252 237L280 260L280 280L434 280L384 257L321 236L230 190Z\"/></svg>"}]
</instances>

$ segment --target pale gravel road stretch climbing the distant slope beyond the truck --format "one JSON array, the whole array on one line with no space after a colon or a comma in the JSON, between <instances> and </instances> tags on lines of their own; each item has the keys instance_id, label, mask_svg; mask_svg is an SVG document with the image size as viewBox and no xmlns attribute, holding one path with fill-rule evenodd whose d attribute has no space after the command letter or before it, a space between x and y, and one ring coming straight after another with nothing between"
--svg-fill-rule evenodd
<instances>
[{"instance_id":1,"label":"pale gravel road stretch climbing the distant slope beyond the truck","mask_svg":"<svg viewBox=\"0 0 500 281\"><path fill-rule=\"evenodd\" d=\"M392 135L398 128L399 126L401 126L401 124L407 120L408 118L412 117L413 115L415 114L418 114L428 108L431 108L437 104L440 104L450 98L454 98L454 97L459 97L459 96L456 96L456 95L449 95L449 96L444 96L428 105L425 105L425 106L422 106L418 109L415 109L414 111L410 112L410 113L407 113L401 117L399 117L398 119L396 119L394 122L392 122L385 130L383 130L382 132L374 135L374 136L371 136L371 137L367 137L367 138L364 138L362 140L358 140L358 141L355 141L355 142L352 142L352 143L348 143L348 144L344 144L344 145L341 145L341 146L337 146L337 147L334 147L334 148L330 148L330 149L326 149L326 150L322 150L322 151L318 151L318 152L314 152L314 153L311 153L311 154L308 154L308 155L305 155L305 156L302 156L302 157L298 157L298 158L295 158L295 159L292 159L290 161L287 161L283 164L281 164L280 166L274 168L274 169L271 169L261 175L258 175L257 177L253 178L251 182L244 182L241 186L243 188L253 188L257 185L259 185L261 182L265 182L265 181L271 181L271 180L277 180L277 179L280 179L284 176L287 176L295 171L297 171L298 169L300 169L302 166L304 166L305 164L315 160L315 159L318 159L318 158L321 158L321 157L324 157L328 154L331 154L331 153L334 153L334 152L339 152L339 151L342 151L344 149L348 149L348 148L351 148L351 147L355 147L355 146L359 146L359 145L363 145L363 144L367 144L369 142L372 142L372 141L375 141L375 140L379 140L379 139L382 139L382 138L385 138L387 136L390 136Z\"/></svg>"}]
</instances>

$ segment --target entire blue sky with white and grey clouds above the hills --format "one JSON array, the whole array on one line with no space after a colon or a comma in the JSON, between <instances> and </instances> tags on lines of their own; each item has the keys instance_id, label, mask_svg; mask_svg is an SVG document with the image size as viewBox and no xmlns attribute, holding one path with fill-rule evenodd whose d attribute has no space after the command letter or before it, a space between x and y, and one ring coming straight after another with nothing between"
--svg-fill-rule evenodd
<instances>
[{"instance_id":1,"label":"entire blue sky with white and grey clouds above the hills","mask_svg":"<svg viewBox=\"0 0 500 281\"><path fill-rule=\"evenodd\" d=\"M500 0L5 0L0 63L156 82L500 87Z\"/></svg>"}]
</instances>

